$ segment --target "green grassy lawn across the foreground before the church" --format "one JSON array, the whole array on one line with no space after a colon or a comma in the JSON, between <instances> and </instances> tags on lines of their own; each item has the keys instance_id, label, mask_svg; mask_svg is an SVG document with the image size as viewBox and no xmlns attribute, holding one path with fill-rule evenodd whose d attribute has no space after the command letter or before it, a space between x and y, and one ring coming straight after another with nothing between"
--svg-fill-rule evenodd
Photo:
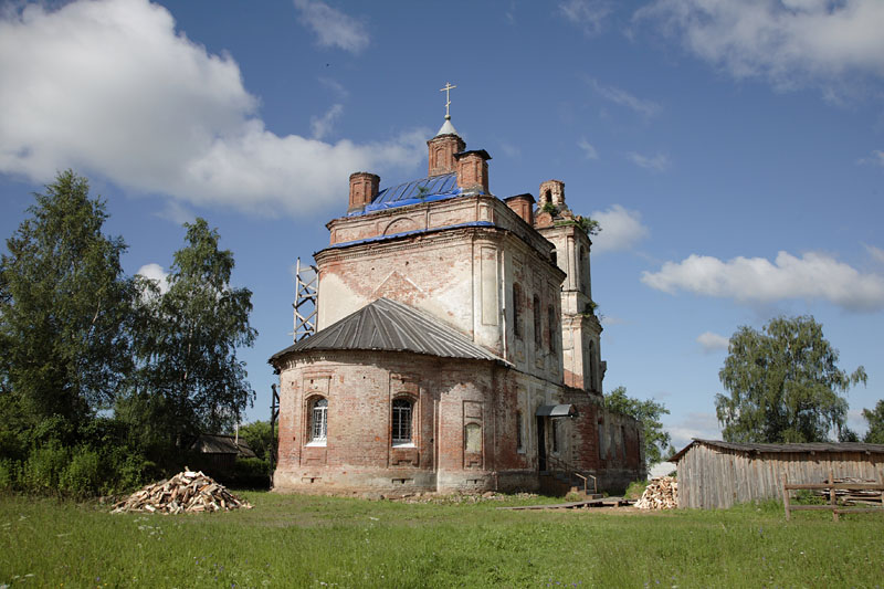
<instances>
[{"instance_id":1,"label":"green grassy lawn across the foreground before the church","mask_svg":"<svg viewBox=\"0 0 884 589\"><path fill-rule=\"evenodd\" d=\"M884 587L884 514L243 495L179 516L0 496L0 587Z\"/></svg>"}]
</instances>

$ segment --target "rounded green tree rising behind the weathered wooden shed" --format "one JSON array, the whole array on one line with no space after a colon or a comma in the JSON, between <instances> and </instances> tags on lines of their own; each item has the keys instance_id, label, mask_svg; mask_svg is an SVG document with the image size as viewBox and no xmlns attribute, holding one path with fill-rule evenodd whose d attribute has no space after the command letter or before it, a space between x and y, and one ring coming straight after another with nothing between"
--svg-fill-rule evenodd
<instances>
[{"instance_id":1,"label":"rounded green tree rising behind the weathered wooden shed","mask_svg":"<svg viewBox=\"0 0 884 589\"><path fill-rule=\"evenodd\" d=\"M813 317L778 317L761 332L740 327L718 372L729 395L715 396L724 439L730 442L814 442L845 427L839 395L865 383L863 367L848 375L838 350Z\"/></svg>"}]
</instances>

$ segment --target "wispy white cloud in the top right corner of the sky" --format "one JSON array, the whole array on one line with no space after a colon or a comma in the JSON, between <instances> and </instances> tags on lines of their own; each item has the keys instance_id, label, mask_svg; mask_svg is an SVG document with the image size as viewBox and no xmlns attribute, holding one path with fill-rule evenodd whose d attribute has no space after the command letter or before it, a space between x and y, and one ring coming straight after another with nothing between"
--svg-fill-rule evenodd
<instances>
[{"instance_id":1,"label":"wispy white cloud in the top right corner of the sky","mask_svg":"<svg viewBox=\"0 0 884 589\"><path fill-rule=\"evenodd\" d=\"M881 0L655 0L634 19L737 78L838 92L830 84L844 75L884 75Z\"/></svg>"}]
</instances>

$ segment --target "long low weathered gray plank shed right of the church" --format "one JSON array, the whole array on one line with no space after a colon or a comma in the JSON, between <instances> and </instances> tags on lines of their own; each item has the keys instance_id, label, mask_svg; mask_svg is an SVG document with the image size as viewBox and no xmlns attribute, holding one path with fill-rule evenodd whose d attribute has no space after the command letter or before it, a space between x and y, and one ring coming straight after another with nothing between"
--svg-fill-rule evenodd
<instances>
[{"instance_id":1,"label":"long low weathered gray plank shed right of the church","mask_svg":"<svg viewBox=\"0 0 884 589\"><path fill-rule=\"evenodd\" d=\"M740 444L694 439L670 459L678 469L678 507L730 507L782 497L789 483L884 481L884 444Z\"/></svg>"}]
</instances>

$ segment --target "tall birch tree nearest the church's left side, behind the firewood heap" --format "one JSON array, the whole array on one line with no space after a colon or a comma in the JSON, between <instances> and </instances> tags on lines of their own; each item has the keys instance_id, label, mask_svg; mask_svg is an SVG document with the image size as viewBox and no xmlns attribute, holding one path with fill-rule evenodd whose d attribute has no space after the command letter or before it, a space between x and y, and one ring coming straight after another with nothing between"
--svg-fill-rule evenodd
<instances>
[{"instance_id":1,"label":"tall birch tree nearest the church's left side, behind the firewood heap","mask_svg":"<svg viewBox=\"0 0 884 589\"><path fill-rule=\"evenodd\" d=\"M185 223L187 244L175 253L169 290L144 286L136 353L139 370L117 410L151 428L143 443L186 444L229 430L254 399L236 349L257 335L249 325L252 293L230 285L233 254L219 250L206 220Z\"/></svg>"}]
</instances>

